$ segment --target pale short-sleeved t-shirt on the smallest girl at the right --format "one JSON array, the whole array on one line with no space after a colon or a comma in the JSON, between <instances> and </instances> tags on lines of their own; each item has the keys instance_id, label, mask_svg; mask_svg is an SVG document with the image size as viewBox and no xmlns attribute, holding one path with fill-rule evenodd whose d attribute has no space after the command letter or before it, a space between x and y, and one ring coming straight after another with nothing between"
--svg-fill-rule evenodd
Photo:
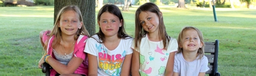
<instances>
[{"instance_id":1,"label":"pale short-sleeved t-shirt on the smallest girl at the right","mask_svg":"<svg viewBox=\"0 0 256 76\"><path fill-rule=\"evenodd\" d=\"M177 72L179 76L198 76L199 72L207 72L208 70L206 56L201 59L198 56L195 61L188 62L183 58L182 52L175 55L173 72Z\"/></svg>"}]
</instances>

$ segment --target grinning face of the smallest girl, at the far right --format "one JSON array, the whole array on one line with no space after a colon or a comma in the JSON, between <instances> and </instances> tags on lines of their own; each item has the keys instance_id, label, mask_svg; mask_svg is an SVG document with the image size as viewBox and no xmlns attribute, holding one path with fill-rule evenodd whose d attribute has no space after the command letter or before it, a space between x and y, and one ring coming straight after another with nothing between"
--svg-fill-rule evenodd
<instances>
[{"instance_id":1,"label":"grinning face of the smallest girl, at the far right","mask_svg":"<svg viewBox=\"0 0 256 76\"><path fill-rule=\"evenodd\" d=\"M198 32L194 29L184 30L180 40L179 47L183 48L183 52L197 52L199 47L202 47Z\"/></svg>"}]
</instances>

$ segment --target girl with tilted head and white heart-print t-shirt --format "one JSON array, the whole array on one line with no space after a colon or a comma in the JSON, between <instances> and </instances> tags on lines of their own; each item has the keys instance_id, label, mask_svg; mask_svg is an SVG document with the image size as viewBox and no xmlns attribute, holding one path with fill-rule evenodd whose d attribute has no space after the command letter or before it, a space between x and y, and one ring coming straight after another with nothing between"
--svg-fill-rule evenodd
<instances>
[{"instance_id":1,"label":"girl with tilted head and white heart-print t-shirt","mask_svg":"<svg viewBox=\"0 0 256 76\"><path fill-rule=\"evenodd\" d=\"M148 2L136 10L132 75L173 75L177 40L168 36L163 13Z\"/></svg>"}]
</instances>

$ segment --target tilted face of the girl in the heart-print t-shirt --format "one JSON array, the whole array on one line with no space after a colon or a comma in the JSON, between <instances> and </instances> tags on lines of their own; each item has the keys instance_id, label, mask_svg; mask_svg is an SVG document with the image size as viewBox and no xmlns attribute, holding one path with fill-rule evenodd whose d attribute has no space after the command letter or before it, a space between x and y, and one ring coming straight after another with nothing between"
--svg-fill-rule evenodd
<instances>
[{"instance_id":1,"label":"tilted face of the girl in the heart-print t-shirt","mask_svg":"<svg viewBox=\"0 0 256 76\"><path fill-rule=\"evenodd\" d=\"M142 11L139 14L139 23L145 31L148 31L148 33L158 32L159 17L153 12Z\"/></svg>"}]
</instances>

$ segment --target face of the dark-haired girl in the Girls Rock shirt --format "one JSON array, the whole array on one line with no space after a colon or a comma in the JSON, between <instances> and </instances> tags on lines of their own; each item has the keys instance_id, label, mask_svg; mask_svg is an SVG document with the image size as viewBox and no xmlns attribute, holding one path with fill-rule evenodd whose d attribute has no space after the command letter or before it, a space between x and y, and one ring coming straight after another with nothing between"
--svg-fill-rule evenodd
<instances>
[{"instance_id":1,"label":"face of the dark-haired girl in the Girls Rock shirt","mask_svg":"<svg viewBox=\"0 0 256 76\"><path fill-rule=\"evenodd\" d=\"M122 21L122 20L121 20ZM122 26L119 18L110 12L103 12L98 21L99 27L105 36L117 36L119 27Z\"/></svg>"}]
</instances>

